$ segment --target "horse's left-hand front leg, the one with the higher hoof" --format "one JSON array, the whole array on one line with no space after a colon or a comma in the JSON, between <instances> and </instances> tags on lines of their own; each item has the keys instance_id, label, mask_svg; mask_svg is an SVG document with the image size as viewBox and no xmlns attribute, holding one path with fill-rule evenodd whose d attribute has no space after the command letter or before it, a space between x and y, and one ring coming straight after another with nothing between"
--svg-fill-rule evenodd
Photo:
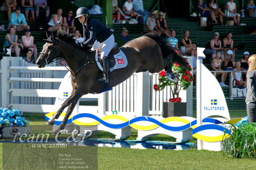
<instances>
[{"instance_id":1,"label":"horse's left-hand front leg, the one with the higher hoof","mask_svg":"<svg viewBox=\"0 0 256 170\"><path fill-rule=\"evenodd\" d=\"M54 120L60 117L60 114L63 112L63 110L68 105L73 103L74 100L76 100L77 98L79 99L82 96L83 96L83 93L81 93L81 91L77 91L77 89L73 88L70 97L68 97L67 100L65 100L65 102L61 105L60 109L58 109L58 111L52 116L52 118L49 121L47 121L47 125L54 125Z\"/></svg>"}]
</instances>

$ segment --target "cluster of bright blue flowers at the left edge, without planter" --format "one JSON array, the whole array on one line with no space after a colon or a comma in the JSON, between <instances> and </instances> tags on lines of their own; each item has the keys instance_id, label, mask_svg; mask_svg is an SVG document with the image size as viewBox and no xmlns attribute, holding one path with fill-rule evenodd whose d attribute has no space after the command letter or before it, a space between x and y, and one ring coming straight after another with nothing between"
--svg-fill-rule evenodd
<instances>
[{"instance_id":1,"label":"cluster of bright blue flowers at the left edge, without planter","mask_svg":"<svg viewBox=\"0 0 256 170\"><path fill-rule=\"evenodd\" d=\"M11 111L7 108L0 108L0 125L4 125L4 127L25 127L29 123L29 120L20 116L17 109Z\"/></svg>"}]
</instances>

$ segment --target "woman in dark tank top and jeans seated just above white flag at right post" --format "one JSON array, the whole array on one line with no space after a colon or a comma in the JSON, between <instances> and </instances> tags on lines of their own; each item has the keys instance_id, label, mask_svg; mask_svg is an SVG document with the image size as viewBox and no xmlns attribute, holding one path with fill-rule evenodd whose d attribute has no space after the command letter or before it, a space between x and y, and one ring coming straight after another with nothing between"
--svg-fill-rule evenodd
<instances>
[{"instance_id":1,"label":"woman in dark tank top and jeans seated just above white flag at right post","mask_svg":"<svg viewBox=\"0 0 256 170\"><path fill-rule=\"evenodd\" d=\"M211 55L212 59L214 59L216 56L216 52L220 51L221 60L223 61L224 53L223 53L223 48L221 47L221 40L219 38L220 38L220 34L218 32L215 32L214 38L212 38L212 40L209 43L207 43L207 45L205 46L204 54Z\"/></svg>"}]
</instances>

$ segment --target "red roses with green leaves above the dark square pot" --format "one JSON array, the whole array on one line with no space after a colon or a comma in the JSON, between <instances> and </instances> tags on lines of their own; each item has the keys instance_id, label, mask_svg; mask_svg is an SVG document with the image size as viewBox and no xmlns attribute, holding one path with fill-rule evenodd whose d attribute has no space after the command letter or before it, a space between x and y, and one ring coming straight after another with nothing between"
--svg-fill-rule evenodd
<instances>
[{"instance_id":1,"label":"red roses with green leaves above the dark square pot","mask_svg":"<svg viewBox=\"0 0 256 170\"><path fill-rule=\"evenodd\" d=\"M171 91L172 91L172 98L169 99L169 102L181 102L181 98L179 97L180 90L185 90L188 89L190 86L191 82L193 81L193 75L190 73L192 68L190 65L188 67L182 67L177 63L174 63L172 66L173 73L179 74L180 80L177 82L170 81L166 77L165 71L161 71L159 73L159 83L154 84L154 89L156 91L161 91L163 90L166 86L170 86Z\"/></svg>"}]
</instances>

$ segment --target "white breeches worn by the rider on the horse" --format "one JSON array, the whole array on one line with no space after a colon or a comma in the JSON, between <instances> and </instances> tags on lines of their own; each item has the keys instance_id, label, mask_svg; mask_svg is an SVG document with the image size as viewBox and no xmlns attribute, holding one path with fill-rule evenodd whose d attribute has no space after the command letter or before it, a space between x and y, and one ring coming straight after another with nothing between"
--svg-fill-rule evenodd
<instances>
[{"instance_id":1,"label":"white breeches worn by the rider on the horse","mask_svg":"<svg viewBox=\"0 0 256 170\"><path fill-rule=\"evenodd\" d=\"M113 35L109 36L105 42L98 42L97 40L92 45L92 50L101 49L100 58L104 58L104 56L108 57L109 52L113 48L115 43L115 37Z\"/></svg>"}]
</instances>

